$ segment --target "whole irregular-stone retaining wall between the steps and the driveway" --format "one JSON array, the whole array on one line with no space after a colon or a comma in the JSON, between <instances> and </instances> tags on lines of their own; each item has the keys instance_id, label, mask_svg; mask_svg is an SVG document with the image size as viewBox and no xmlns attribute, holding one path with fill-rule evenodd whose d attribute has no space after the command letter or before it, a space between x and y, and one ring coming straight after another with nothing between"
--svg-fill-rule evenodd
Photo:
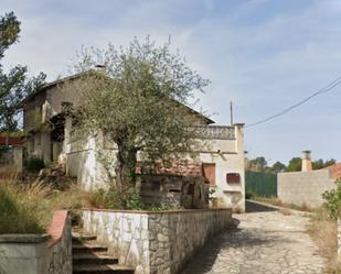
<instances>
[{"instance_id":1,"label":"whole irregular-stone retaining wall between the steps and the driveway","mask_svg":"<svg viewBox=\"0 0 341 274\"><path fill-rule=\"evenodd\" d=\"M137 274L179 273L213 234L228 228L231 209L181 211L84 210L87 232Z\"/></svg>"}]
</instances>

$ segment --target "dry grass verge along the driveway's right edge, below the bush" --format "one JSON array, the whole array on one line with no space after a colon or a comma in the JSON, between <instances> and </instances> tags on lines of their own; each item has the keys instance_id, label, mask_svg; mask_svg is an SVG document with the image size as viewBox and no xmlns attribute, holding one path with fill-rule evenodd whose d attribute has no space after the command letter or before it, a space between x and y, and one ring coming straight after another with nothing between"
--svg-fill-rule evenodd
<instances>
[{"instance_id":1,"label":"dry grass verge along the driveway's right edge, below the bush","mask_svg":"<svg viewBox=\"0 0 341 274\"><path fill-rule=\"evenodd\" d=\"M327 272L331 274L341 274L341 262L338 261L338 229L326 208L319 208L313 211L308 233L319 248L319 252L328 260Z\"/></svg>"}]
</instances>

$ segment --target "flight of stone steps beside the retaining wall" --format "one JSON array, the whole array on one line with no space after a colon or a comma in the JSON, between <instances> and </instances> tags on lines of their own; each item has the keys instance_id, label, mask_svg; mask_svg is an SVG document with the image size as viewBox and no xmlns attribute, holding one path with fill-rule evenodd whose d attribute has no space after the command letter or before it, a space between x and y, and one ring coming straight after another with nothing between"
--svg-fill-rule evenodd
<instances>
[{"instance_id":1,"label":"flight of stone steps beside the retaining wall","mask_svg":"<svg viewBox=\"0 0 341 274\"><path fill-rule=\"evenodd\" d=\"M134 268L118 264L108 246L97 242L96 235L76 230L72 237L73 274L134 274Z\"/></svg>"}]
</instances>

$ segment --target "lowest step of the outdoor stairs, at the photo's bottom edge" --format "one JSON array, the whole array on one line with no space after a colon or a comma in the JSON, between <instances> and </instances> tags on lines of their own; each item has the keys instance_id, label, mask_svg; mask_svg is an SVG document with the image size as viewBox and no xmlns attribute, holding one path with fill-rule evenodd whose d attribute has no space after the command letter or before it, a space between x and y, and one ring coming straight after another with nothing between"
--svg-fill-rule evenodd
<instances>
[{"instance_id":1,"label":"lowest step of the outdoor stairs, at the photo's bottom edge","mask_svg":"<svg viewBox=\"0 0 341 274\"><path fill-rule=\"evenodd\" d=\"M134 274L134 268L119 264L73 266L73 274Z\"/></svg>"}]
</instances>

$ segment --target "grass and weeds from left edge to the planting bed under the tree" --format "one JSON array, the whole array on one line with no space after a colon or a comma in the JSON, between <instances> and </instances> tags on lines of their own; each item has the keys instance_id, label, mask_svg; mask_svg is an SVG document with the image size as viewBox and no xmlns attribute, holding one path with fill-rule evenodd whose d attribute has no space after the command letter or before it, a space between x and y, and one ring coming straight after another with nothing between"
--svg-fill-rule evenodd
<instances>
[{"instance_id":1,"label":"grass and weeds from left edge to the planting bed under the tree","mask_svg":"<svg viewBox=\"0 0 341 274\"><path fill-rule=\"evenodd\" d=\"M32 179L33 180L33 179ZM53 211L81 208L134 209L164 211L171 207L146 206L134 193L122 207L115 191L87 193L72 185L66 190L56 190L43 183L22 182L12 168L0 169L0 234L46 232ZM178 208L177 208L178 209Z\"/></svg>"}]
</instances>

